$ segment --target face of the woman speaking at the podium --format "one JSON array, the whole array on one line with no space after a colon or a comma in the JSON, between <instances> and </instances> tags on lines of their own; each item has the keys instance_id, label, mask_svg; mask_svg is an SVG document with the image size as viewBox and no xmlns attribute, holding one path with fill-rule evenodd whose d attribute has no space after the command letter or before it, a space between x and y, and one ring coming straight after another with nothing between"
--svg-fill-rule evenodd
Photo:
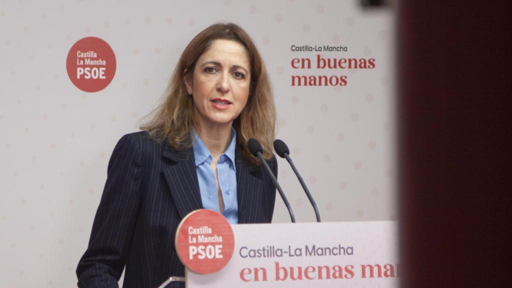
<instances>
[{"instance_id":1,"label":"face of the woman speaking at the podium","mask_svg":"<svg viewBox=\"0 0 512 288\"><path fill-rule=\"evenodd\" d=\"M247 104L250 71L241 44L224 39L211 43L197 60L194 75L185 77L201 127L232 125Z\"/></svg>"}]
</instances>

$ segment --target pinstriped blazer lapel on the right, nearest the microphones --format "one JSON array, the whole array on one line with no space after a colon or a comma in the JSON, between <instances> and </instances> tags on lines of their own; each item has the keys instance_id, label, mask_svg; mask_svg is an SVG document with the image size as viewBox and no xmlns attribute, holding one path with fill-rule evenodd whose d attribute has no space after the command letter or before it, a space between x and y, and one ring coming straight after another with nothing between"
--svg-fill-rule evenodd
<instances>
[{"instance_id":1,"label":"pinstriped blazer lapel on the right, nearest the microphones","mask_svg":"<svg viewBox=\"0 0 512 288\"><path fill-rule=\"evenodd\" d=\"M247 160L237 147L235 150L235 166L237 168L237 200L238 200L238 222L258 222L258 204L260 202L261 190L263 188L263 172L257 166Z\"/></svg>"}]
</instances>

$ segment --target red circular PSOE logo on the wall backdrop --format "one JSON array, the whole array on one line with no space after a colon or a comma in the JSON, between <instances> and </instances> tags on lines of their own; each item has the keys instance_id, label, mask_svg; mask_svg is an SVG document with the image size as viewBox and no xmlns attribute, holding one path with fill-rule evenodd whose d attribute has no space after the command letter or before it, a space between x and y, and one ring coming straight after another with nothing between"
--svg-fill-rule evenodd
<instances>
[{"instance_id":1,"label":"red circular PSOE logo on the wall backdrop","mask_svg":"<svg viewBox=\"0 0 512 288\"><path fill-rule=\"evenodd\" d=\"M116 55L104 40L85 37L69 50L66 67L76 88L85 92L98 92L114 79Z\"/></svg>"}]
</instances>

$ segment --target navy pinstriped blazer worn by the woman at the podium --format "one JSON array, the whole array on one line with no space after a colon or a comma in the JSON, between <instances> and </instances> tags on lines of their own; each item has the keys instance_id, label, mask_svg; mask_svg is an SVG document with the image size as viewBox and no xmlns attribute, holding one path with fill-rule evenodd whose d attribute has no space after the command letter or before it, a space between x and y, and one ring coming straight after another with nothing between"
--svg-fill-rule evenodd
<instances>
[{"instance_id":1,"label":"navy pinstriped blazer worn by the woman at the podium","mask_svg":"<svg viewBox=\"0 0 512 288\"><path fill-rule=\"evenodd\" d=\"M268 161L277 175L277 161ZM239 223L272 220L275 187L261 166L235 151ZM201 209L194 149L175 151L146 132L124 135L112 153L91 238L76 274L79 287L157 287L183 276L175 231Z\"/></svg>"}]
</instances>

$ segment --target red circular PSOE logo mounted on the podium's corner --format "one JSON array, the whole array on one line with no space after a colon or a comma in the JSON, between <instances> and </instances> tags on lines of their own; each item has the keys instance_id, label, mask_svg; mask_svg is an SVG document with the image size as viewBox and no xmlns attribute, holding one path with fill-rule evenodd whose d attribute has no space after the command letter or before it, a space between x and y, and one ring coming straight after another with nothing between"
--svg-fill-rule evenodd
<instances>
[{"instance_id":1,"label":"red circular PSOE logo mounted on the podium's corner","mask_svg":"<svg viewBox=\"0 0 512 288\"><path fill-rule=\"evenodd\" d=\"M176 250L181 262L198 274L223 269L234 251L234 234L227 219L213 210L190 212L178 226Z\"/></svg>"}]
</instances>

